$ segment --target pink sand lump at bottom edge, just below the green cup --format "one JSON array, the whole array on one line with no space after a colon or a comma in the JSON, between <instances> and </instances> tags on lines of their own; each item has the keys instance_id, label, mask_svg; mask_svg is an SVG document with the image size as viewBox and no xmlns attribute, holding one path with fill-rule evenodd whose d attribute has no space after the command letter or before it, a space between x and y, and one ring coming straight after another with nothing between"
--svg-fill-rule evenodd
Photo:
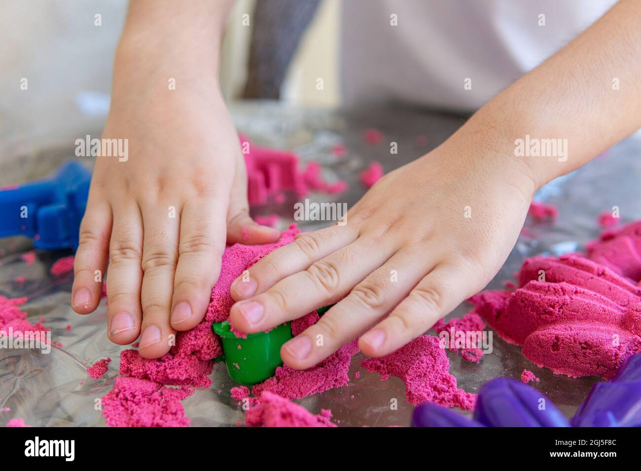
<instances>
[{"instance_id":1,"label":"pink sand lump at bottom edge, just below the green cup","mask_svg":"<svg viewBox=\"0 0 641 471\"><path fill-rule=\"evenodd\" d=\"M248 427L336 427L331 411L323 410L314 415L296 402L269 391L263 391L258 401L247 409L245 425Z\"/></svg>"}]
</instances>

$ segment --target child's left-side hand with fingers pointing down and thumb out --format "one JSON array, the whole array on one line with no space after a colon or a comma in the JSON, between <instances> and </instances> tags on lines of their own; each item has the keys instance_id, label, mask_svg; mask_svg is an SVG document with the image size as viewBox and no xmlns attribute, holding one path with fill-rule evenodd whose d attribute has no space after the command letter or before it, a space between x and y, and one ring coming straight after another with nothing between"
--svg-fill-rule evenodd
<instances>
[{"instance_id":1,"label":"child's left-side hand with fingers pointing down and thumb out","mask_svg":"<svg viewBox=\"0 0 641 471\"><path fill-rule=\"evenodd\" d=\"M149 91L112 102L103 138L128 138L129 155L97 158L72 306L96 309L96 270L104 276L109 260L108 337L126 344L142 331L140 354L158 358L177 330L202 320L226 241L265 244L279 231L249 217L245 163L222 99Z\"/></svg>"}]
</instances>

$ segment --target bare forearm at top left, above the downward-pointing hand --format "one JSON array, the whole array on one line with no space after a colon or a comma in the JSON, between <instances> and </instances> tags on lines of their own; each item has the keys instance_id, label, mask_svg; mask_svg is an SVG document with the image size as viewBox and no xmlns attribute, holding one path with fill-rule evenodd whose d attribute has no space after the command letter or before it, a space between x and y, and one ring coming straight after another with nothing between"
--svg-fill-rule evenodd
<instances>
[{"instance_id":1,"label":"bare forearm at top left, above the downward-pointing hand","mask_svg":"<svg viewBox=\"0 0 641 471\"><path fill-rule=\"evenodd\" d=\"M222 34L233 0L132 0L114 63L113 95L217 91Z\"/></svg>"}]
</instances>

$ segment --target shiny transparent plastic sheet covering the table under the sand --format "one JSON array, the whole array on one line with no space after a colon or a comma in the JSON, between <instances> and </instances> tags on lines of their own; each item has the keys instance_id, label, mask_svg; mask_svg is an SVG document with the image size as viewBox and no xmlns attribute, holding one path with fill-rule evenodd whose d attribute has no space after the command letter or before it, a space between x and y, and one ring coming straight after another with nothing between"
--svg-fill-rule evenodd
<instances>
[{"instance_id":1,"label":"shiny transparent plastic sheet covering the table under the sand","mask_svg":"<svg viewBox=\"0 0 641 471\"><path fill-rule=\"evenodd\" d=\"M347 202L349 206L365 192L358 183L358 172L365 169L369 161L378 160L386 171L392 170L440 144L463 122L456 117L413 110L336 113L288 109L273 103L237 104L232 107L232 113L240 131L255 144L293 149L303 160L320 161L328 179L344 179L351 185L344 194L313 194L310 199ZM377 146L365 143L363 131L367 128L383 131L383 143ZM84 135L84 129L78 131L78 135ZM398 154L390 154L388 143L391 141L398 143ZM346 148L343 158L330 152L331 147L338 144ZM60 163L61 156L73 156L73 147L67 147L48 148L45 142L37 152L22 154L22 165L3 163L3 182L19 183L49 174ZM528 221L528 236L519 238L488 288L502 288L528 256L580 248L595 238L599 233L596 219L601 211L619 206L624 222L641 217L640 155L641 141L629 138L584 169L546 186L539 196L556 204L560 211L558 221L555 224ZM37 171L27 173L24 169ZM253 208L253 211L256 214L278 212L283 216L281 224L287 224L293 214L290 204L293 201L296 199L290 197L281 205ZM289 209L283 211L282 208ZM299 224L305 230L322 225ZM0 426L14 417L24 418L26 424L32 426L104 426L101 411L96 409L96 399L111 390L119 367L119 352L126 348L106 339L104 301L91 315L79 316L71 311L72 274L60 278L49 274L51 263L70 252L37 252L35 263L28 267L20 258L32 250L28 240L0 240L0 249L4 251L0 258L0 293L7 297L27 296L29 301L22 310L28 313L29 320L35 323L44 317L44 325L52 330L53 342L62 343L62 347L53 347L50 354L0 349L0 409L10 408L0 412ZM15 281L19 276L26 276L26 281ZM469 310L470 305L463 303L449 317L460 317ZM67 330L66 326L71 328ZM556 376L526 360L520 347L503 342L497 335L493 340L494 351L480 363L468 363L460 355L447 352L451 372L458 379L459 387L467 392L477 392L485 381L494 377L519 378L527 368L540 377L540 383L531 384L548 395L565 414L572 415L590 386L599 381ZM107 357L112 358L112 363L103 378L88 377L87 365ZM403 382L395 377L381 381L378 374L360 368L362 359L360 354L353 357L349 385L297 402L314 413L319 413L321 408L331 409L341 426L407 426L413 408L406 402ZM354 377L356 371L361 372L358 379ZM211 388L198 390L183 401L192 426L233 426L242 422L244 414L229 395L229 389L237 384L229 379L225 366L215 365L211 378ZM395 410L390 408L394 399L398 404Z\"/></svg>"}]
</instances>

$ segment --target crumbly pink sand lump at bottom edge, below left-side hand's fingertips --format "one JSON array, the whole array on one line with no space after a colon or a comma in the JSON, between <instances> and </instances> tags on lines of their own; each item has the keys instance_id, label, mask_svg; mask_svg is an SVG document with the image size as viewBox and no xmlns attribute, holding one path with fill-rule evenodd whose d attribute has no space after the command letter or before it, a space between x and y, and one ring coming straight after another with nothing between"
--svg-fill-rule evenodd
<instances>
[{"instance_id":1,"label":"crumbly pink sand lump at bottom edge, below left-side hand's fingertips","mask_svg":"<svg viewBox=\"0 0 641 471\"><path fill-rule=\"evenodd\" d=\"M193 393L190 388L117 377L103 397L103 416L110 427L187 427L189 418L180 401Z\"/></svg>"}]
</instances>

